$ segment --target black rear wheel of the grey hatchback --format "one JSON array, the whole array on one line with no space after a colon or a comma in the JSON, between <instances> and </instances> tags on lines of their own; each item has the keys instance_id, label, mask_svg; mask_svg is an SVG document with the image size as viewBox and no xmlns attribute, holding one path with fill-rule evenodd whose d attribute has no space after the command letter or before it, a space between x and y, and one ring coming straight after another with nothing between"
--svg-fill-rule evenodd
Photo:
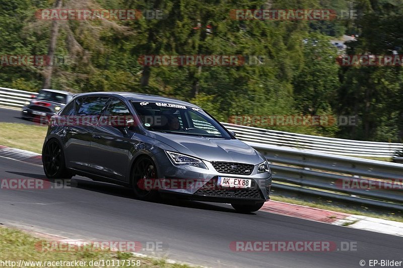
<instances>
[{"instance_id":1,"label":"black rear wheel of the grey hatchback","mask_svg":"<svg viewBox=\"0 0 403 268\"><path fill-rule=\"evenodd\" d=\"M72 178L72 173L66 168L64 152L56 139L49 140L43 148L43 170L47 178Z\"/></svg>"}]
</instances>

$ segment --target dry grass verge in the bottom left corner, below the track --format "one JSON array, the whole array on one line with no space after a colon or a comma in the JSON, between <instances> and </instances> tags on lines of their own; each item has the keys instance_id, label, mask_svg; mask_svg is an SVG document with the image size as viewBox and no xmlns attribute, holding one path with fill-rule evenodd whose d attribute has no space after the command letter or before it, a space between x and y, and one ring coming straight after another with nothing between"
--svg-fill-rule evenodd
<instances>
[{"instance_id":1,"label":"dry grass verge in the bottom left corner, below the track","mask_svg":"<svg viewBox=\"0 0 403 268\"><path fill-rule=\"evenodd\" d=\"M104 260L104 265L102 267L123 267L122 260L133 260L137 263L140 260L139 267L167 267L167 268L187 268L190 267L184 264L172 264L167 263L165 259L154 259L148 257L136 257L128 252L111 252L111 251L39 251L35 248L35 243L42 242L44 239L36 238L28 233L14 229L0 227L0 256L2 261L10 260L16 261L14 267L33 267L33 268L43 268L43 267L63 267L63 265L57 265L57 263L50 263L51 265L46 265L45 261L86 261L86 265L77 266L68 265L69 267L101 267L101 265L90 265L90 261ZM21 264L17 266L20 260L31 261L31 263ZM107 262L109 260L109 262ZM112 261L114 260L115 266L112 266ZM120 260L120 266L117 266L117 260ZM42 261L39 263L32 263L32 261ZM131 262L130 262L131 263ZM10 264L10 263L9 263ZM45 265L44 265L45 264ZM53 265L55 264L55 265ZM67 264L67 263L64 263ZM81 263L81 264L84 264ZM110 264L110 265L107 265ZM80 264L79 264L80 265ZM6 267L10 266L6 263ZM66 266L66 265L64 265ZM10 266L11 267L11 266ZM126 267L126 265L124 266ZM138 267L130 266L130 267Z\"/></svg>"}]
</instances>

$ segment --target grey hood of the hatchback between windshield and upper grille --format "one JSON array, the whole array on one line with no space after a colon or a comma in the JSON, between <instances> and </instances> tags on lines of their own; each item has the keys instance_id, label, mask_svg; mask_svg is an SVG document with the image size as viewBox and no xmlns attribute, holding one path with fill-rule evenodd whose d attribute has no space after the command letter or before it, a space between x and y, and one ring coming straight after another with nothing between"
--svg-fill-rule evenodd
<instances>
[{"instance_id":1,"label":"grey hood of the hatchback between windshield and upper grille","mask_svg":"<svg viewBox=\"0 0 403 268\"><path fill-rule=\"evenodd\" d=\"M147 136L164 142L180 153L207 161L226 161L254 165L264 161L255 149L237 139L225 140L149 131Z\"/></svg>"}]
</instances>

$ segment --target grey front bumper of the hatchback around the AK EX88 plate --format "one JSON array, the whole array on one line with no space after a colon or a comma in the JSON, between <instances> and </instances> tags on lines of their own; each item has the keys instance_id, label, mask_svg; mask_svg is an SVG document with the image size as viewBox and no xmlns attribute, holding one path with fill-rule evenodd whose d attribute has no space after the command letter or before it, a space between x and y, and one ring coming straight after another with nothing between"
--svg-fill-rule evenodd
<instances>
[{"instance_id":1,"label":"grey front bumper of the hatchback around the AK EX88 plate","mask_svg":"<svg viewBox=\"0 0 403 268\"><path fill-rule=\"evenodd\" d=\"M190 200L200 200L218 203L261 203L270 199L272 174L270 172L256 173L257 167L251 175L224 174L215 170L213 165L204 161L208 169L195 166L173 165L165 152L154 155L157 163L157 174L160 180L166 180L167 188L158 189L160 192L177 194ZM252 180L251 188L224 188L217 186L219 176L247 178ZM170 187L180 185L183 180L193 183L189 187ZM174 181L174 183L171 183ZM179 181L179 183L178 183ZM161 184L160 184L161 185Z\"/></svg>"}]
</instances>

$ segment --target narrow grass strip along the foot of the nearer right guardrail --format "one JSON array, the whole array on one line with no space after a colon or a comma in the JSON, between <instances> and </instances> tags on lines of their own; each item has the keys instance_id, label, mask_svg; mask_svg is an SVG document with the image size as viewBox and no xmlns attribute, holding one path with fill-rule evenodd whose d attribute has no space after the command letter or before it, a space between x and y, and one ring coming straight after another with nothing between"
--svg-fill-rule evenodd
<instances>
[{"instance_id":1,"label":"narrow grass strip along the foot of the nearer right guardrail","mask_svg":"<svg viewBox=\"0 0 403 268\"><path fill-rule=\"evenodd\" d=\"M276 195L271 195L270 199L273 201L291 203L291 204L307 206L307 207L311 207L311 208L326 209L326 210L337 211L337 212L342 212L342 213L347 213L347 214L362 215L362 216L379 218L379 219L384 219L384 220L403 222L403 217L394 215L392 213L378 214L378 213L367 212L364 210L340 208L340 207L337 207L337 206L334 206L331 204L314 203L312 201L304 201L301 199L295 199L295 198L284 197L284 196L276 196Z\"/></svg>"}]
</instances>

